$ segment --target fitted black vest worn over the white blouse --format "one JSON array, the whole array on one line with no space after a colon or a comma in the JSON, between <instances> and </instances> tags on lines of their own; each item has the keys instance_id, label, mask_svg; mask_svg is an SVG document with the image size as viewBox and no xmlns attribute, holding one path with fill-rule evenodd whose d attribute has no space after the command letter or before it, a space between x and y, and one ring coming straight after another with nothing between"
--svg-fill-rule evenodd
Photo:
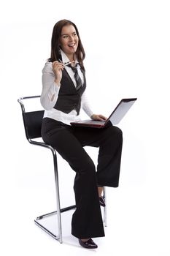
<instances>
[{"instance_id":1,"label":"fitted black vest worn over the white blouse","mask_svg":"<svg viewBox=\"0 0 170 256\"><path fill-rule=\"evenodd\" d=\"M81 97L86 88L85 72L83 70L82 74L84 77L84 84L77 90L68 72L66 72L66 69L63 69L61 88L59 90L57 102L53 108L67 114L75 109L77 110L77 115L79 115Z\"/></svg>"}]
</instances>

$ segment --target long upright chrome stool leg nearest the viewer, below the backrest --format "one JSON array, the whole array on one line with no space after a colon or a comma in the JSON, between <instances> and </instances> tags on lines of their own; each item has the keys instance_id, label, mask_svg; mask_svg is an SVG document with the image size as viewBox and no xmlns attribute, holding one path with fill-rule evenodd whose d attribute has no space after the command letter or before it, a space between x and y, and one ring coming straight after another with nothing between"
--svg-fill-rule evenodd
<instances>
[{"instance_id":1,"label":"long upright chrome stool leg nearest the viewer, below the backrest","mask_svg":"<svg viewBox=\"0 0 170 256\"><path fill-rule=\"evenodd\" d=\"M58 165L57 165L57 155L55 149L51 148L53 153L53 164L54 164L54 173L55 173L55 191L56 191L56 203L57 203L57 217L58 217L58 237L60 243L63 243L62 239L62 228L61 228L61 204L60 204L60 194L59 194L59 184L58 184Z\"/></svg>"}]
</instances>

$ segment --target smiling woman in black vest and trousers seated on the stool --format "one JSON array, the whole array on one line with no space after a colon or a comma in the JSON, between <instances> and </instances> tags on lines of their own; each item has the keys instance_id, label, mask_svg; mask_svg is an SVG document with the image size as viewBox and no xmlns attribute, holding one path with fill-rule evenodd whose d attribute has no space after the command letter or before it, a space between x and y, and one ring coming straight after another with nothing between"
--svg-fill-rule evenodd
<instances>
[{"instance_id":1,"label":"smiling woman in black vest and trousers seated on the stool","mask_svg":"<svg viewBox=\"0 0 170 256\"><path fill-rule=\"evenodd\" d=\"M97 245L92 238L104 236L100 208L105 206L103 187L118 187L123 137L111 124L104 129L70 125L80 120L81 108L93 120L107 119L93 113L88 104L84 59L77 26L70 20L58 21L53 28L51 56L42 70L42 138L76 173L72 235L81 246L93 249ZM97 167L84 146L99 147Z\"/></svg>"}]
</instances>

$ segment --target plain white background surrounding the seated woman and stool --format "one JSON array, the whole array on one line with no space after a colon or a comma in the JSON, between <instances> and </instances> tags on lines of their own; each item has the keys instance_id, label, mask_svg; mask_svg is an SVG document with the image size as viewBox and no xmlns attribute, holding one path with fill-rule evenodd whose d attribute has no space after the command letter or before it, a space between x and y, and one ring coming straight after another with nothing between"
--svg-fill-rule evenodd
<instances>
[{"instance_id":1,"label":"plain white background surrounding the seated woman and stool","mask_svg":"<svg viewBox=\"0 0 170 256\"><path fill-rule=\"evenodd\" d=\"M53 26L63 18L80 31L95 112L108 116L121 98L138 98L119 125L120 187L107 189L108 227L106 237L95 240L96 252L170 255L169 13L165 0L1 1L1 255L95 253L70 235L70 214L63 221L63 244L33 222L55 210L53 163L50 152L26 141L17 99L41 94ZM87 151L96 162L97 149ZM68 205L74 173L60 157L58 162L61 199Z\"/></svg>"}]
</instances>

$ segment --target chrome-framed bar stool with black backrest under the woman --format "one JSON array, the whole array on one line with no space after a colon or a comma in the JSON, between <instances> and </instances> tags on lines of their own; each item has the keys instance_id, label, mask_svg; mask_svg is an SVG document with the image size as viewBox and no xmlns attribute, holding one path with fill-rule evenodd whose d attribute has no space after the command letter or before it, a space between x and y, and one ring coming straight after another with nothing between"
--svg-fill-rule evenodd
<instances>
[{"instance_id":1,"label":"chrome-framed bar stool with black backrest under the woman","mask_svg":"<svg viewBox=\"0 0 170 256\"><path fill-rule=\"evenodd\" d=\"M44 230L46 233L48 233L50 236L58 240L60 243L63 243L62 238L62 227L61 227L61 213L72 210L76 208L75 205L68 206L65 208L61 208L60 203L60 192L59 192L59 181L58 181L58 162L57 162L57 152L55 151L55 148L53 148L50 145L47 145L43 140L38 141L37 138L42 138L41 135L41 127L42 127L42 118L44 116L44 110L34 110L34 111L26 111L25 105L23 101L25 100L32 100L40 98L40 95L38 96L30 96L30 97L20 97L18 99L18 102L20 103L20 107L22 110L22 116L23 116L23 124L24 129L26 133L26 139L29 143L35 146L44 147L47 149L50 149L50 151L53 154L53 167L54 167L54 175L55 175L55 196L56 196L56 204L57 204L57 211L50 212L48 214L43 214L39 217L36 217L34 219L34 222L36 225L38 225L42 230ZM106 201L106 188L104 187L104 197ZM50 217L56 215L55 219L58 224L58 230L55 230L56 232L52 232L50 229L47 229L45 225L42 225L41 220L45 217ZM107 227L107 207L104 207L104 217L103 217L104 226Z\"/></svg>"}]
</instances>

